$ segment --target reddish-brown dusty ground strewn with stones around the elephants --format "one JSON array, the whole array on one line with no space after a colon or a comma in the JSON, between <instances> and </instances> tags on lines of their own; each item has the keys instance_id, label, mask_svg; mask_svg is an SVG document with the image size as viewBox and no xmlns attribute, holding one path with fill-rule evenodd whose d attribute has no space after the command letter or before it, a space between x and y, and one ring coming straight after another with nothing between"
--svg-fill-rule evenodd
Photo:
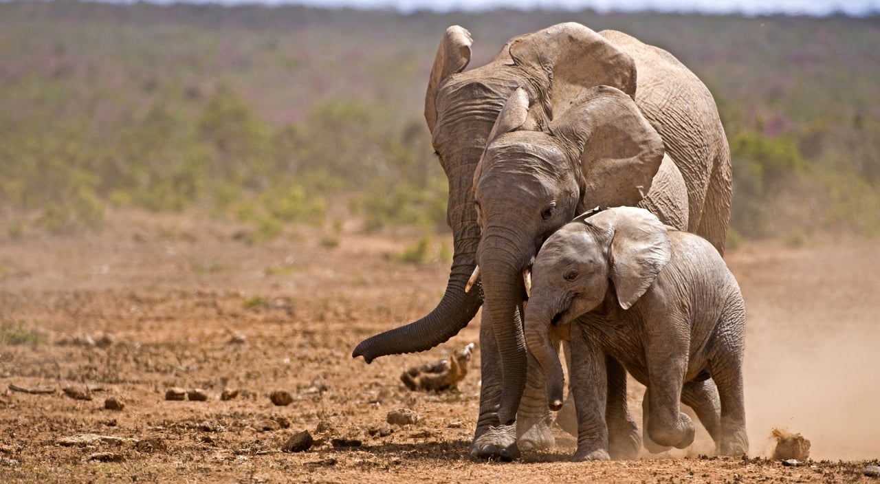
<instances>
[{"instance_id":1,"label":"reddish-brown dusty ground strewn with stones around the elephants","mask_svg":"<svg viewBox=\"0 0 880 484\"><path fill-rule=\"evenodd\" d=\"M498 464L466 458L479 348L457 392L410 392L399 380L477 342L476 321L427 353L370 365L350 357L358 341L440 297L444 263L389 257L417 233L365 236L347 224L252 246L240 230L125 212L99 235L0 235L0 482L880 482L862 475L880 458L876 240L728 254L749 311L750 458L705 457L700 429L674 455L572 464L574 442L560 432L558 450ZM209 398L165 400L174 386ZM224 388L238 397L220 400ZM293 402L275 406L275 390ZM641 391L633 385L636 415ZM105 409L110 397L124 409ZM370 436L398 408L421 420ZM769 459L777 427L809 438L811 460ZM282 452L300 430L315 437L312 449ZM117 438L61 444L84 434Z\"/></svg>"}]
</instances>

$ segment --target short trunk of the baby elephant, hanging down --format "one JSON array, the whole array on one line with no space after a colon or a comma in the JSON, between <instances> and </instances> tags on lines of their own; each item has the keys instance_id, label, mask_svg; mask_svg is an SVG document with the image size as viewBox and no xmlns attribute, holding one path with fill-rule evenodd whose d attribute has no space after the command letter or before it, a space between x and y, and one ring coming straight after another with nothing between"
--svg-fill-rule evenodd
<instances>
[{"instance_id":1,"label":"short trunk of the baby elephant, hanging down","mask_svg":"<svg viewBox=\"0 0 880 484\"><path fill-rule=\"evenodd\" d=\"M550 409L559 410L563 402L564 377L559 353L551 343L548 334L551 321L554 318L554 311L547 308L545 300L539 295L529 299L529 305L525 311L525 341L546 375L547 401Z\"/></svg>"}]
</instances>

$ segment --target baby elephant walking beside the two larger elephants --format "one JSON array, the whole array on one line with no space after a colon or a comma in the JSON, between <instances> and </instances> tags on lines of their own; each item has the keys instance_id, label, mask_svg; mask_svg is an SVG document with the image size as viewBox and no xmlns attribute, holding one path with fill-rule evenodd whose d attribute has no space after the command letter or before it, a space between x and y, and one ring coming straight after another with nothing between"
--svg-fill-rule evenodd
<instances>
[{"instance_id":1,"label":"baby elephant walking beside the two larger elephants","mask_svg":"<svg viewBox=\"0 0 880 484\"><path fill-rule=\"evenodd\" d=\"M578 216L547 239L532 266L525 337L556 410L563 377L551 337L568 328L575 460L609 458L605 356L647 386L643 424L654 444L683 449L693 442L693 422L680 412L682 389L712 378L720 421L717 406L700 420L720 422L708 428L716 452L747 452L744 327L742 294L715 247L666 227L645 209Z\"/></svg>"}]
</instances>

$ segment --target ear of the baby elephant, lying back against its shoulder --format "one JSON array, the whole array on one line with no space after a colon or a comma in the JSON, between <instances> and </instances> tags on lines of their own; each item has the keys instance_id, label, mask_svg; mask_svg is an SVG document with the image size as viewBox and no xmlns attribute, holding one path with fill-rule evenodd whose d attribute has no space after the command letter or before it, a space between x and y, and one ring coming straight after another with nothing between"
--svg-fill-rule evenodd
<instances>
[{"instance_id":1,"label":"ear of the baby elephant, lying back against its shoulder","mask_svg":"<svg viewBox=\"0 0 880 484\"><path fill-rule=\"evenodd\" d=\"M611 230L608 258L618 302L629 309L645 293L671 258L666 226L646 209L616 207L584 221Z\"/></svg>"}]
</instances>

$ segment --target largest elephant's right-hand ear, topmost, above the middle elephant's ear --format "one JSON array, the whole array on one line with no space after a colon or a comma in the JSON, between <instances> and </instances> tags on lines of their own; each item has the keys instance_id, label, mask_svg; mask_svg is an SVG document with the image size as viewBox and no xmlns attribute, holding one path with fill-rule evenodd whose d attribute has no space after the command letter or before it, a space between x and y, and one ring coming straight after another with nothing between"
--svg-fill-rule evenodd
<instances>
[{"instance_id":1,"label":"largest elephant's right-hand ear, topmost, above the middle elephant's ear","mask_svg":"<svg viewBox=\"0 0 880 484\"><path fill-rule=\"evenodd\" d=\"M575 22L510 40L510 57L543 85L538 95L550 119L595 85L611 85L635 97L633 58Z\"/></svg>"}]
</instances>

